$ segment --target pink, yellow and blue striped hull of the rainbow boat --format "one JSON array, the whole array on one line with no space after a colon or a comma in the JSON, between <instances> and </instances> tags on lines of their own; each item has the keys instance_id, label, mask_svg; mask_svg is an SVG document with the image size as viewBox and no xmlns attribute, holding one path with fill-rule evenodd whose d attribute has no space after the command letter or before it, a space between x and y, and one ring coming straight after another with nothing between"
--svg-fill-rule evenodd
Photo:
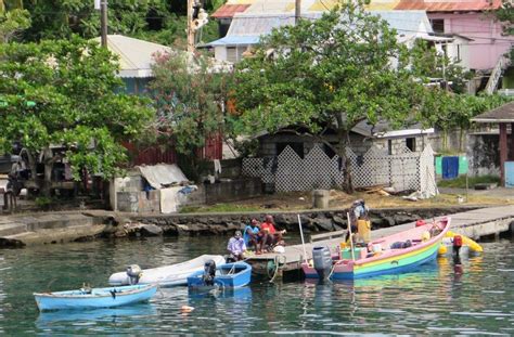
<instances>
[{"instance_id":1,"label":"pink, yellow and blue striped hull of the rainbow boat","mask_svg":"<svg viewBox=\"0 0 514 337\"><path fill-rule=\"evenodd\" d=\"M373 277L384 274L404 273L419 270L420 265L434 261L437 258L438 249L445 233L448 231L450 220L444 220L444 228L441 232L428 239L427 242L416 243L409 248L387 249L377 256L368 257L357 260L337 260L332 268L332 280L356 280L364 277ZM403 234L395 234L391 237L384 237L380 241L372 242L386 244L389 246L395 241L399 239L414 239L431 228L426 224L425 228L416 228L408 230ZM306 278L319 278L317 271L309 263L301 265Z\"/></svg>"}]
</instances>

